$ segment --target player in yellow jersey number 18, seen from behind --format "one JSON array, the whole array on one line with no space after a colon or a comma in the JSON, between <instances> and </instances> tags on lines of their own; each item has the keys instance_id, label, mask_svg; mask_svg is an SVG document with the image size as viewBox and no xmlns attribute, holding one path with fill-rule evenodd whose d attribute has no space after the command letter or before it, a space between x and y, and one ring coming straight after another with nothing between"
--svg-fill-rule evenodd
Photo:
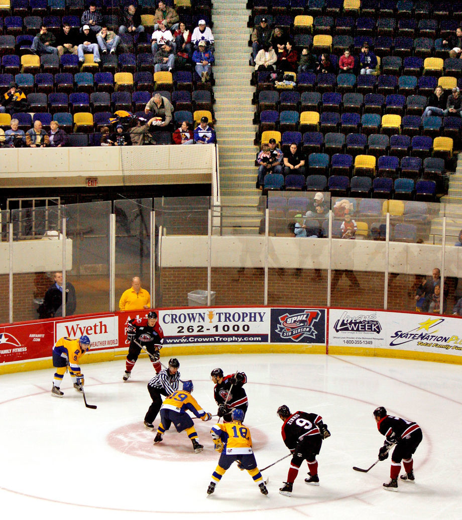
<instances>
[{"instance_id":1,"label":"player in yellow jersey number 18, seen from behind","mask_svg":"<svg viewBox=\"0 0 462 520\"><path fill-rule=\"evenodd\" d=\"M236 461L241 470L247 470L248 474L254 479L254 482L260 488L263 495L268 495L263 477L257 467L254 452L252 451L252 436L247 426L242 424L244 420L244 412L240 408L235 408L231 412L230 423L215 424L210 430L210 434L214 439L215 449L221 453L218 466L212 473L212 482L210 482L207 495L211 495L215 491L217 482L226 473L231 464ZM215 482L214 482L215 480Z\"/></svg>"}]
</instances>

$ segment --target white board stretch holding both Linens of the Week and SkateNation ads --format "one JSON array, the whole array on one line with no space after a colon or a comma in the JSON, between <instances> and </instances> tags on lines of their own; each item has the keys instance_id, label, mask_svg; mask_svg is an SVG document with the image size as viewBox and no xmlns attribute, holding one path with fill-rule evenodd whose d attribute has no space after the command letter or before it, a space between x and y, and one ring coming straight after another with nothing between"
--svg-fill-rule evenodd
<instances>
[{"instance_id":1,"label":"white board stretch holding both Linens of the Week and SkateNation ads","mask_svg":"<svg viewBox=\"0 0 462 520\"><path fill-rule=\"evenodd\" d=\"M462 321L440 315L331 309L329 345L462 355Z\"/></svg>"}]
</instances>

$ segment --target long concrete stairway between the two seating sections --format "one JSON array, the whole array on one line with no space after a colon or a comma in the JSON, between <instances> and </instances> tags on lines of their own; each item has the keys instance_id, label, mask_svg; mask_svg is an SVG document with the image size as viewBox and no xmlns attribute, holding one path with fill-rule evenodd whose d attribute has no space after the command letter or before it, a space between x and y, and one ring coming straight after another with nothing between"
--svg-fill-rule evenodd
<instances>
[{"instance_id":1,"label":"long concrete stairway between the two seating sections","mask_svg":"<svg viewBox=\"0 0 462 520\"><path fill-rule=\"evenodd\" d=\"M233 206L227 213L234 233L255 232L261 218L257 210L260 192L255 188L255 88L250 85L249 11L245 4L245 0L214 0L213 7L220 197L222 205Z\"/></svg>"}]
</instances>

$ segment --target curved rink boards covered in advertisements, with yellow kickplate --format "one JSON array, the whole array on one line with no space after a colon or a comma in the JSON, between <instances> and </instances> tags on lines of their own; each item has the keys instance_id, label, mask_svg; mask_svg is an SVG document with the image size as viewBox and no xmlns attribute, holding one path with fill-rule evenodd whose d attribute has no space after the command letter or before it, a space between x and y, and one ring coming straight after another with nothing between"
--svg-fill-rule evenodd
<instances>
[{"instance_id":1,"label":"curved rink boards covered in advertisements, with yellow kickplate","mask_svg":"<svg viewBox=\"0 0 462 520\"><path fill-rule=\"evenodd\" d=\"M54 343L88 335L84 362L127 355L127 322L147 311L102 313L0 326L0 373L52 366ZM462 321L439 314L308 307L157 309L161 360L172 355L300 353L462 363Z\"/></svg>"}]
</instances>

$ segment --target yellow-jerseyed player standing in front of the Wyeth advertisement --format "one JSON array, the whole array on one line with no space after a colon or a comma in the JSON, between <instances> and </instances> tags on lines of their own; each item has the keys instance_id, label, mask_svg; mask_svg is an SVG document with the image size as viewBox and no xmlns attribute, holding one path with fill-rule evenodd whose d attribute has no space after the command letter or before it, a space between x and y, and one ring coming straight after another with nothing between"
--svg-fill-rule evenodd
<instances>
[{"instance_id":1,"label":"yellow-jerseyed player standing in front of the Wyeth advertisement","mask_svg":"<svg viewBox=\"0 0 462 520\"><path fill-rule=\"evenodd\" d=\"M52 396L63 397L59 387L63 381L64 374L69 369L69 374L74 381L74 388L77 392L83 392L83 374L80 371L79 359L88 352L90 348L90 338L80 336L79 339L71 340L69 337L61 337L53 347L53 366L56 372L53 379Z\"/></svg>"}]
</instances>

